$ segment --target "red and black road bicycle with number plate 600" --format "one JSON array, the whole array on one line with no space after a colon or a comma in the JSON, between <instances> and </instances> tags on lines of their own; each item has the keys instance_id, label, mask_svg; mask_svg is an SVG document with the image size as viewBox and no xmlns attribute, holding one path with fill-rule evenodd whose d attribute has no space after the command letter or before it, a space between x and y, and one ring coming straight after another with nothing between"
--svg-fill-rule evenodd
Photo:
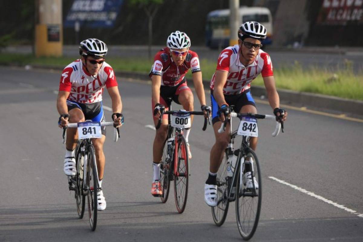
<instances>
[{"instance_id":1,"label":"red and black road bicycle with number plate 600","mask_svg":"<svg viewBox=\"0 0 363 242\"><path fill-rule=\"evenodd\" d=\"M171 109L171 106L170 106ZM207 120L211 108L207 107L207 118L204 118L202 130L207 128ZM156 129L160 127L163 114L168 114L168 135L164 141L163 156L160 162L160 184L163 194L160 197L165 203L168 200L170 181L174 180L174 197L178 213L183 213L187 204L189 185L189 159L187 143L183 136L183 130L191 127L191 115L204 115L202 111L165 111L160 110L160 119ZM174 133L175 128L175 133Z\"/></svg>"}]
</instances>

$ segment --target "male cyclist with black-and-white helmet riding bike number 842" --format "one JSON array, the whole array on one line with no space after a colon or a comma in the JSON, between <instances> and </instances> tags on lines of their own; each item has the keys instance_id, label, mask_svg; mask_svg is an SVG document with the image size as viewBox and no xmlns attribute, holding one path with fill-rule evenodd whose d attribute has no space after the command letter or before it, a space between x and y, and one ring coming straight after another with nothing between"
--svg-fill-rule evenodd
<instances>
[{"instance_id":1,"label":"male cyclist with black-and-white helmet riding bike number 842","mask_svg":"<svg viewBox=\"0 0 363 242\"><path fill-rule=\"evenodd\" d=\"M264 80L268 100L276 116L286 120L287 112L280 108L270 56L261 50L261 41L266 38L266 28L258 22L245 22L238 30L238 45L224 49L217 62L211 81L212 123L216 142L211 149L208 179L204 187L204 201L209 206L217 205L216 176L229 141L229 125L225 132L218 133L230 113L257 113L256 104L250 93L250 83L259 74ZM257 138L250 137L250 147L256 150ZM247 173L248 174L248 173ZM247 176L250 179L251 176ZM252 179L250 179L252 180ZM257 182L255 187L258 187ZM252 185L252 181L248 182Z\"/></svg>"}]
</instances>

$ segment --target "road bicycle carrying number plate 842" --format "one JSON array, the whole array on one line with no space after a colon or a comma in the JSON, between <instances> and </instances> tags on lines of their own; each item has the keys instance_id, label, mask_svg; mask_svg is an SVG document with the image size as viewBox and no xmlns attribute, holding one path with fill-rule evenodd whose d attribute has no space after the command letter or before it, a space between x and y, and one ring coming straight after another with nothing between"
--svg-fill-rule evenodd
<instances>
[{"instance_id":1,"label":"road bicycle carrying number plate 842","mask_svg":"<svg viewBox=\"0 0 363 242\"><path fill-rule=\"evenodd\" d=\"M238 231L244 240L252 238L260 218L262 200L261 169L256 153L249 148L249 137L258 136L257 119L274 119L274 115L237 114L231 117L240 119L238 129L232 132L232 118L225 119L219 133L224 132L230 122L230 140L217 172L217 206L212 207L213 220L217 226L223 225L228 212L229 202L236 202ZM277 136L283 122L276 122L272 136ZM234 139L242 136L240 148L234 149Z\"/></svg>"}]
</instances>

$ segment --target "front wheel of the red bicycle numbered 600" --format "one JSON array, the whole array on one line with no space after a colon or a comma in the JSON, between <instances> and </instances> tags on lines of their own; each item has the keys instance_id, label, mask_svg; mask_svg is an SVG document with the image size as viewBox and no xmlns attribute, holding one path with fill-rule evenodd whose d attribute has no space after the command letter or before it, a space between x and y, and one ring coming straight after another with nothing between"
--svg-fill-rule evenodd
<instances>
[{"instance_id":1,"label":"front wheel of the red bicycle numbered 600","mask_svg":"<svg viewBox=\"0 0 363 242\"><path fill-rule=\"evenodd\" d=\"M174 175L174 197L178 213L183 213L188 197L188 182L189 182L189 159L187 143L184 136L178 136L178 157L175 161L176 172Z\"/></svg>"}]
</instances>

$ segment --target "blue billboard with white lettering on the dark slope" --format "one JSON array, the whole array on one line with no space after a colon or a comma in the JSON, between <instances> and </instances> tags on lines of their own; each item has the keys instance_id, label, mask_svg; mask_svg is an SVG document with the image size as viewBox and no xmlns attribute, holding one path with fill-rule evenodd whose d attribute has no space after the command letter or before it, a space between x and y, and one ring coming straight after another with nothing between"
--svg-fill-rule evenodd
<instances>
[{"instance_id":1,"label":"blue billboard with white lettering on the dark slope","mask_svg":"<svg viewBox=\"0 0 363 242\"><path fill-rule=\"evenodd\" d=\"M64 27L112 27L124 0L74 0Z\"/></svg>"}]
</instances>

